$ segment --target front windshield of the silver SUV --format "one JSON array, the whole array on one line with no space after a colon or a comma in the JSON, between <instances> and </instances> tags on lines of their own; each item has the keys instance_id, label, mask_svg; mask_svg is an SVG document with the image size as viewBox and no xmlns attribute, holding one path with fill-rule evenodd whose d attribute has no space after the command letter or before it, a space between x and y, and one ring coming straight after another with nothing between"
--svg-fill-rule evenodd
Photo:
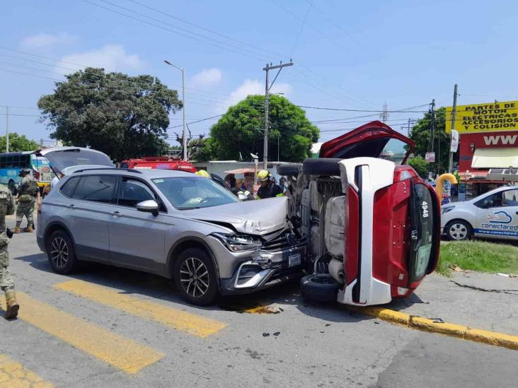
<instances>
[{"instance_id":1,"label":"front windshield of the silver SUV","mask_svg":"<svg viewBox=\"0 0 518 388\"><path fill-rule=\"evenodd\" d=\"M180 210L208 208L238 202L239 199L211 179L171 177L154 179L153 183L169 202Z\"/></svg>"}]
</instances>

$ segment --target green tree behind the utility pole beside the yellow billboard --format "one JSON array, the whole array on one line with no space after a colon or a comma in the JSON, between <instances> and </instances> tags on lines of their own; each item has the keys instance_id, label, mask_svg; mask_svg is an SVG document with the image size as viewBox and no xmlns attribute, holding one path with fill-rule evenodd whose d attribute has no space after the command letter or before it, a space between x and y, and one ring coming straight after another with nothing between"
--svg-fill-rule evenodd
<instances>
[{"instance_id":1,"label":"green tree behind the utility pole beside the yellow billboard","mask_svg":"<svg viewBox=\"0 0 518 388\"><path fill-rule=\"evenodd\" d=\"M448 169L449 157L449 135L445 132L446 128L446 109L440 107L435 112L435 130L433 150L435 152L435 162L428 164L428 170L439 174ZM432 151L432 115L426 113L422 119L414 125L410 139L415 141L414 155L425 158L427 151Z\"/></svg>"}]
</instances>

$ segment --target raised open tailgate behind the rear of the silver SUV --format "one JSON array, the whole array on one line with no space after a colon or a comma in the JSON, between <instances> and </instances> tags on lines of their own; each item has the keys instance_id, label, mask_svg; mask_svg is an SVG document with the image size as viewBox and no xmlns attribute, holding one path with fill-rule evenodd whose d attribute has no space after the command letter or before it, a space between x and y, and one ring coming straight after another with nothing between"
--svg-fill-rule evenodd
<instances>
[{"instance_id":1,"label":"raised open tailgate behind the rear of the silver SUV","mask_svg":"<svg viewBox=\"0 0 518 388\"><path fill-rule=\"evenodd\" d=\"M36 155L47 158L52 168L59 171L77 165L115 167L108 155L91 148L52 147L36 151Z\"/></svg>"}]
</instances>

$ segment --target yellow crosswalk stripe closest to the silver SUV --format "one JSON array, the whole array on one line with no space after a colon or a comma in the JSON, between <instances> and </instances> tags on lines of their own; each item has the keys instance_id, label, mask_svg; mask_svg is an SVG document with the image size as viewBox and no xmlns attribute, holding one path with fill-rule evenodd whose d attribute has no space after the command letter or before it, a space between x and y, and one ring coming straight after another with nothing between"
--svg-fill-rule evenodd
<instances>
[{"instance_id":1,"label":"yellow crosswalk stripe closest to the silver SUV","mask_svg":"<svg viewBox=\"0 0 518 388\"><path fill-rule=\"evenodd\" d=\"M129 314L137 315L137 317L159 322L173 329L185 331L193 336L205 338L226 327L226 324L214 319L159 305L159 303L136 298L132 295L125 295L116 290L85 281L74 280L58 283L54 284L54 288L88 298Z\"/></svg>"}]
</instances>

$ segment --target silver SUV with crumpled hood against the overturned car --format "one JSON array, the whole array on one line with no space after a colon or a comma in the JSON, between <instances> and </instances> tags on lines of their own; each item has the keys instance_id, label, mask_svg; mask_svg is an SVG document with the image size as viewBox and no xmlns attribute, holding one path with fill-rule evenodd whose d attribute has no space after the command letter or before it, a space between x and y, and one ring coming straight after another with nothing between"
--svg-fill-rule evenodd
<instances>
[{"instance_id":1,"label":"silver SUV with crumpled hood against the overturned car","mask_svg":"<svg viewBox=\"0 0 518 388\"><path fill-rule=\"evenodd\" d=\"M207 305L301 274L305 245L287 206L238 201L189 172L86 165L46 196L38 245L59 274L78 261L137 269L173 278L185 300Z\"/></svg>"}]
</instances>

